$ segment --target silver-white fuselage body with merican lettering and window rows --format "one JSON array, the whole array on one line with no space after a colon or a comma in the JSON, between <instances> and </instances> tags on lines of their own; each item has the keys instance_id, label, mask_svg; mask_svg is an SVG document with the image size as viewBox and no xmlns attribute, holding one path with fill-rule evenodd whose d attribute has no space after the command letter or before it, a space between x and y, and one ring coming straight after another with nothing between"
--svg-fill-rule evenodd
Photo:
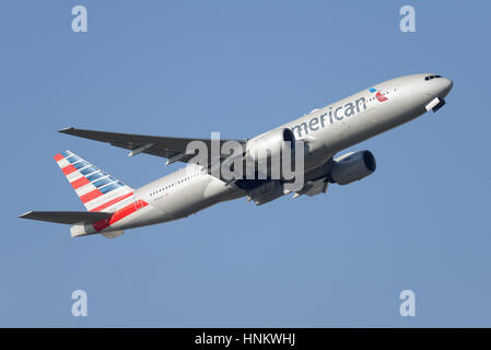
<instances>
[{"instance_id":1,"label":"silver-white fuselage body with merican lettering and window rows","mask_svg":"<svg viewBox=\"0 0 491 350\"><path fill-rule=\"evenodd\" d=\"M279 128L289 128L296 140L307 141L304 164L307 172L339 151L421 116L435 97L443 100L452 89L452 81L440 77L424 80L428 75L431 74L407 75L369 86L375 92L365 89ZM379 98L386 100L381 102ZM218 202L246 195L239 187L189 164L137 189L135 200L141 199L149 205L107 230L185 218Z\"/></svg>"}]
</instances>

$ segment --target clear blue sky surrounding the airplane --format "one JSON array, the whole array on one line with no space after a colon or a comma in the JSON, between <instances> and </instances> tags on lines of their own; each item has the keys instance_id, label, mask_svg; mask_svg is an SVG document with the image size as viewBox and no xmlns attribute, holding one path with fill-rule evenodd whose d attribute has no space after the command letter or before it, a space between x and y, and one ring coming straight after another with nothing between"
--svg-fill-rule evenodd
<instances>
[{"instance_id":1,"label":"clear blue sky surrounding the airplane","mask_svg":"<svg viewBox=\"0 0 491 350\"><path fill-rule=\"evenodd\" d=\"M71 31L83 4L89 32ZM416 8L417 33L399 31ZM488 1L2 1L0 326L491 326ZM52 155L132 187L182 166L68 126L249 138L370 85L435 72L447 105L356 145L326 196L219 205L116 240L20 220L83 210ZM71 315L71 293L89 316ZM400 291L416 317L399 315Z\"/></svg>"}]
</instances>

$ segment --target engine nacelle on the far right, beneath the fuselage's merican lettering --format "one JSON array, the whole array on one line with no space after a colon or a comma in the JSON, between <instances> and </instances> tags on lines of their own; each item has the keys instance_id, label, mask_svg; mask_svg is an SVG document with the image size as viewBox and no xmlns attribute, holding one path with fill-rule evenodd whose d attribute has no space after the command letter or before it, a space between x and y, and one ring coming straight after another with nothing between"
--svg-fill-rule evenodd
<instances>
[{"instance_id":1,"label":"engine nacelle on the far right, beneath the fuselage's merican lettering","mask_svg":"<svg viewBox=\"0 0 491 350\"><path fill-rule=\"evenodd\" d=\"M339 185L348 185L360 180L375 172L377 164L370 151L349 153L335 160L330 171L330 180Z\"/></svg>"}]
</instances>

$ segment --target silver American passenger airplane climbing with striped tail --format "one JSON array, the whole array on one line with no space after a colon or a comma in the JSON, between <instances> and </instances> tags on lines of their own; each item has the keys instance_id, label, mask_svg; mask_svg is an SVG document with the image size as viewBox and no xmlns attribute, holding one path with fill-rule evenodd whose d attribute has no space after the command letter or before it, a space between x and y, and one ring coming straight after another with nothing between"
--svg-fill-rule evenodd
<instances>
[{"instance_id":1,"label":"silver American passenger airplane climbing with striped tail","mask_svg":"<svg viewBox=\"0 0 491 350\"><path fill-rule=\"evenodd\" d=\"M375 172L376 162L367 150L335 155L374 136L408 122L426 112L437 112L453 81L434 73L405 75L372 85L252 139L235 140L241 156L260 148L274 149L281 142L304 144L303 186L293 198L325 194L329 184L348 185ZM107 238L135 229L186 218L215 203L241 197L257 206L290 194L281 178L225 180L210 174L207 163L192 161L187 144L196 139L142 136L67 128L59 132L106 142L127 149L129 156L147 153L167 159L167 164L186 167L140 188L118 180L77 154L65 151L55 160L86 211L30 211L20 218L71 224L71 236L102 234ZM211 139L198 139L211 145ZM227 140L220 140L223 144ZM260 151L260 150L259 150ZM257 154L257 153L254 153Z\"/></svg>"}]
</instances>

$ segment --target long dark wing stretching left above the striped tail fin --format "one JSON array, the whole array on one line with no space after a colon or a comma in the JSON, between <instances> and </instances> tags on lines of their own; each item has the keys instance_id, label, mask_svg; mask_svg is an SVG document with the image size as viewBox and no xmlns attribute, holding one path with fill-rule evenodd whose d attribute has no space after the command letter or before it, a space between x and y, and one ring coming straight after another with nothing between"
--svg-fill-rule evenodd
<instances>
[{"instance_id":1,"label":"long dark wing stretching left above the striped tail fin","mask_svg":"<svg viewBox=\"0 0 491 350\"><path fill-rule=\"evenodd\" d=\"M129 156L147 153L168 159L167 164L174 162L188 162L195 154L186 154L186 147L191 141L202 141L210 150L211 139L171 138L162 136L145 136L133 133L119 133L94 131L75 128L67 128L59 132L85 138L90 140L106 142L115 147L130 150ZM220 145L230 140L220 139ZM246 140L234 140L245 149ZM210 162L210 161L209 161Z\"/></svg>"}]
</instances>

